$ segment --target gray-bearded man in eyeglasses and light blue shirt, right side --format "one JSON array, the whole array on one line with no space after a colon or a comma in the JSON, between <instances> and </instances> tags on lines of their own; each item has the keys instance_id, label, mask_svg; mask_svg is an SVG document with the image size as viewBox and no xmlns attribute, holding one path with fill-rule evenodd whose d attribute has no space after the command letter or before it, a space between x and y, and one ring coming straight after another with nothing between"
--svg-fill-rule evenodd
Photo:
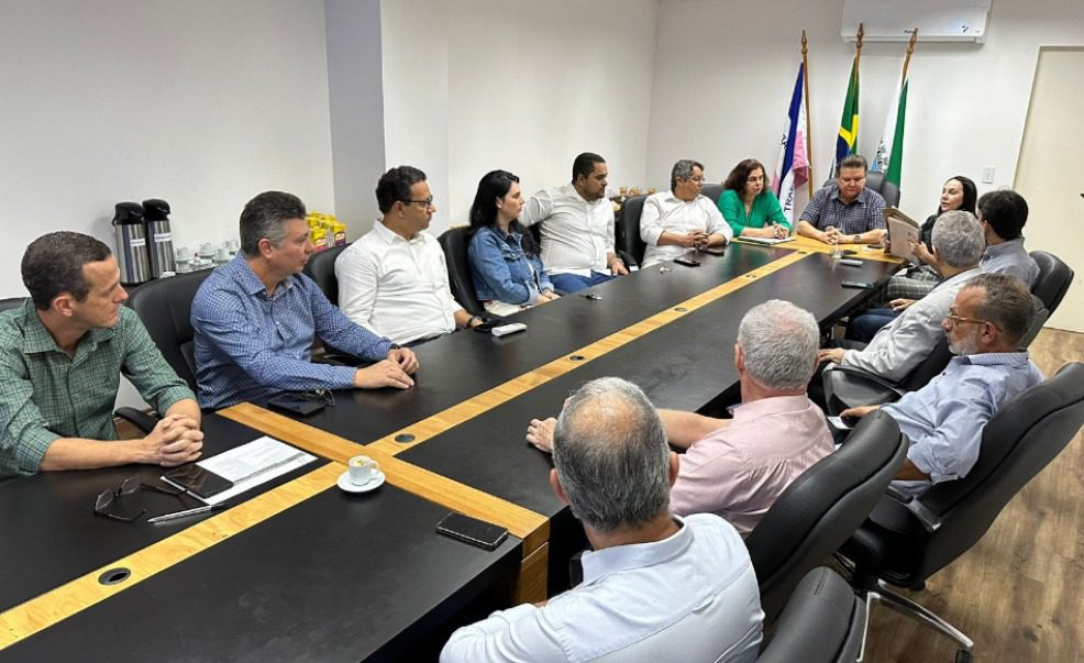
<instances>
[{"instance_id":1,"label":"gray-bearded man in eyeglasses and light blue shirt, right side","mask_svg":"<svg viewBox=\"0 0 1084 663\"><path fill-rule=\"evenodd\" d=\"M1031 295L1014 276L982 274L956 294L942 323L956 356L926 387L880 406L911 443L896 474L903 491L917 496L933 484L967 476L978 460L986 422L1042 382L1042 373L1019 346L1033 316ZM863 417L877 407L850 408L842 415Z\"/></svg>"}]
</instances>

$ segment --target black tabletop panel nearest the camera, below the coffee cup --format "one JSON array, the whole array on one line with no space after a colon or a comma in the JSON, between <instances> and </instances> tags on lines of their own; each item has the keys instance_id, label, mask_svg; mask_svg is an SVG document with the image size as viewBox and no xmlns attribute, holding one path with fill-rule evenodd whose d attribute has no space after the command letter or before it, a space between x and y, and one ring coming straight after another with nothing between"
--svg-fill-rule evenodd
<instances>
[{"instance_id":1,"label":"black tabletop panel nearest the camera, below the coffee cup","mask_svg":"<svg viewBox=\"0 0 1084 663\"><path fill-rule=\"evenodd\" d=\"M488 609L510 600L520 541L486 551L449 539L435 531L446 513L387 484L329 488L0 658L398 660L479 595L502 596Z\"/></svg>"}]
</instances>

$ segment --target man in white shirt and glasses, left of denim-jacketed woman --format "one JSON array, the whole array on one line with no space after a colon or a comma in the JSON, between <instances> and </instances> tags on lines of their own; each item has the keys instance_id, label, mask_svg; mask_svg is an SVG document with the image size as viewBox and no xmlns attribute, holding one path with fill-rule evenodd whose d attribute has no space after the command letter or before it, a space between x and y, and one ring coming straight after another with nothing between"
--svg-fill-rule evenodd
<instances>
[{"instance_id":1,"label":"man in white shirt and glasses, left of denim-jacketed woman","mask_svg":"<svg viewBox=\"0 0 1084 663\"><path fill-rule=\"evenodd\" d=\"M384 217L335 259L343 313L398 345L480 324L452 297L444 252L424 232L436 211L425 174L391 168L376 199Z\"/></svg>"}]
</instances>

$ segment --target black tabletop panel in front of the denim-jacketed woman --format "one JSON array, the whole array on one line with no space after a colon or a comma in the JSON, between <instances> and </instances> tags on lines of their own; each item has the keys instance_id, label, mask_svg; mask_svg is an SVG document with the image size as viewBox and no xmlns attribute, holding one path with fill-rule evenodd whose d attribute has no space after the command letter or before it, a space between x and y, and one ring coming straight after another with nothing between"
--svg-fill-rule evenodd
<instances>
[{"instance_id":1,"label":"black tabletop panel in front of the denim-jacketed woman","mask_svg":"<svg viewBox=\"0 0 1084 663\"><path fill-rule=\"evenodd\" d=\"M649 267L590 288L600 300L569 295L517 313L512 319L527 324L526 332L435 339L414 349L421 367L413 388L336 391L335 407L296 419L372 442L790 253L735 244L724 256L703 255L698 268Z\"/></svg>"}]
</instances>

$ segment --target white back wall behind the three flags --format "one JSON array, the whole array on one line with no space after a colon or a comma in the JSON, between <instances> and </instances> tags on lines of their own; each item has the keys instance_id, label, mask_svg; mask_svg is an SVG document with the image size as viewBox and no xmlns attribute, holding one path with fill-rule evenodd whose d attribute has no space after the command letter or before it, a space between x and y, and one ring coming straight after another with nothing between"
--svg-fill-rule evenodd
<instances>
[{"instance_id":1,"label":"white back wall behind the three flags","mask_svg":"<svg viewBox=\"0 0 1084 663\"><path fill-rule=\"evenodd\" d=\"M726 177L738 161L775 168L778 136L809 37L815 179L827 177L853 45L839 36L842 2L810 0L751 5L715 0L660 0L648 180L665 185L677 158L706 162ZM1011 186L1035 63L1042 44L1084 43L1084 3L994 2L986 43L922 43L910 66L900 206L933 211L941 184L961 174ZM905 44L866 43L861 65L859 150L871 156L899 77ZM1066 102L1069 97L1066 96ZM799 207L801 202L799 200Z\"/></svg>"}]
</instances>

